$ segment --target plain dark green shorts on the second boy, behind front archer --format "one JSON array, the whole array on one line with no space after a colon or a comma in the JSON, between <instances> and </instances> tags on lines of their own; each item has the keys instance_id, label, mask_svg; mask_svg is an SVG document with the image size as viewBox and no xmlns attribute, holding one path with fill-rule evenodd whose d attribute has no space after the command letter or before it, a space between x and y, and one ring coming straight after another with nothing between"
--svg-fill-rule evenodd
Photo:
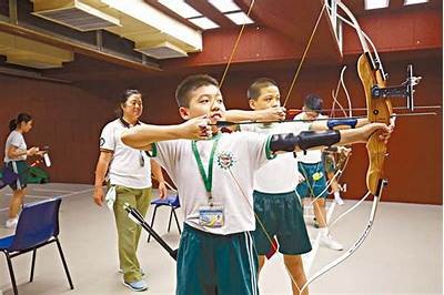
<instances>
[{"instance_id":1,"label":"plain dark green shorts on the second boy, behind front archer","mask_svg":"<svg viewBox=\"0 0 444 295\"><path fill-rule=\"evenodd\" d=\"M270 238L273 236L282 254L300 255L312 250L301 202L294 191L282 194L254 191L253 197L254 212L260 221L256 221L256 230L253 232L259 255L266 255L272 250Z\"/></svg>"}]
</instances>

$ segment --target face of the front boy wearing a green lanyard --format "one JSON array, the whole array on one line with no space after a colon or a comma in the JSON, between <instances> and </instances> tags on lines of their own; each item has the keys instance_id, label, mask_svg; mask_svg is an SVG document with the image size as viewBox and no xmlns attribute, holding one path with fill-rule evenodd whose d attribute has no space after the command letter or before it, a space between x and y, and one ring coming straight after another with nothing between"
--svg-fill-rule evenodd
<instances>
[{"instance_id":1,"label":"face of the front boy wearing a green lanyard","mask_svg":"<svg viewBox=\"0 0 444 295\"><path fill-rule=\"evenodd\" d=\"M203 85L189 93L189 106L179 108L179 113L184 120L208 115L211 124L225 118L225 105L223 104L222 94L215 85Z\"/></svg>"}]
</instances>

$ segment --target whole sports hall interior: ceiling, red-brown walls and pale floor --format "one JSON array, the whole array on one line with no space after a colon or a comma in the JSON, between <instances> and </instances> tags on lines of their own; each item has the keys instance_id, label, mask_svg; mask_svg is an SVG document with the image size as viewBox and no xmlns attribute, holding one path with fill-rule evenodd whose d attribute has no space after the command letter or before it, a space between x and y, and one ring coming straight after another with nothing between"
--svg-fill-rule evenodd
<instances>
[{"instance_id":1,"label":"whole sports hall interior: ceiling, red-brown walls and pale floor","mask_svg":"<svg viewBox=\"0 0 444 295\"><path fill-rule=\"evenodd\" d=\"M27 143L49 146L52 165L42 165L50 182L30 184L24 203L62 199L60 242L74 285L70 289L57 246L48 245L38 252L32 283L31 254L13 260L20 294L129 293L118 273L113 215L92 201L100 132L117 118L123 90L142 93L141 121L152 124L182 122L175 89L185 77L201 73L223 79L226 109L249 110L246 89L265 77L279 83L287 111L300 110L305 95L316 93L325 109L334 105L329 115L366 115L356 70L363 48L356 27L346 23L350 18L334 0L233 0L226 2L234 10L225 12L212 2L218 1L0 1L1 156L8 122L18 113L31 114L33 129L26 135ZM386 0L371 7L374 1L342 2L373 41L389 74L387 87L406 81L408 64L422 79L414 87L413 111L405 108L405 98L390 99L400 115L384 163L389 185L369 236L344 263L314 281L310 292L442 294L443 3ZM230 18L236 13L238 18ZM329 197L329 218L365 194L367 166L365 144L353 145L340 181L346 184L345 205L337 206ZM0 238L13 234L4 227L10 197L9 187L0 190ZM371 210L372 197L331 230L344 244L342 253L320 247L312 218L306 218L313 244L304 257L307 277L354 245ZM181 208L176 213L182 227ZM152 214L153 206L147 221ZM176 247L180 234L174 221L167 230L169 217L170 208L160 207L154 230ZM139 258L147 272L147 293L174 294L175 262L147 237L142 231ZM275 255L265 265L259 279L261 294L291 294L281 261ZM13 294L2 254L0 294Z\"/></svg>"}]
</instances>

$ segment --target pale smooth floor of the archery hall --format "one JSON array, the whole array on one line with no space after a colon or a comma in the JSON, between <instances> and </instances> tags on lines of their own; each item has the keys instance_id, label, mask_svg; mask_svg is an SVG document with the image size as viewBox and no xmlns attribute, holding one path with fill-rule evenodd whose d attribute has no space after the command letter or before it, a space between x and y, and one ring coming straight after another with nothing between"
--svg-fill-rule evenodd
<instances>
[{"instance_id":1,"label":"pale smooth floor of the archery hall","mask_svg":"<svg viewBox=\"0 0 444 295\"><path fill-rule=\"evenodd\" d=\"M108 208L91 201L92 186L81 184L31 185L26 202L62 196L60 212L61 243L75 288L68 281L56 245L38 251L34 282L28 283L31 255L14 258L20 294L129 294L118 274L114 221ZM4 228L10 190L0 191L0 236ZM331 217L344 206L329 203ZM347 215L332 228L334 236L350 247L361 235L369 218L371 203ZM155 230L173 247L179 243L175 225L167 233L169 210L158 211ZM179 215L181 212L179 210ZM148 214L151 218L151 212ZM365 243L347 261L315 281L311 294L442 294L442 206L381 203L373 230ZM305 255L310 277L329 262L343 254L319 247L317 230L307 218L313 251ZM316 242L317 241L317 242ZM3 256L3 255L2 255ZM174 294L175 262L155 242L147 243L142 234L139 257L147 273L145 294ZM290 278L282 256L266 262L260 277L261 294L291 294ZM12 294L6 260L0 258L0 294Z\"/></svg>"}]
</instances>

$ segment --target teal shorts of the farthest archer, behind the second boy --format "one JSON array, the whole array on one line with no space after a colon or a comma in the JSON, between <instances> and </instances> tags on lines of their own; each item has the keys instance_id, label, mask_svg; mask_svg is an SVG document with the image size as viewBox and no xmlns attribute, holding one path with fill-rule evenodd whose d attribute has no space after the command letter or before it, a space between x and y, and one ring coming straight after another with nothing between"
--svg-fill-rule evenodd
<instances>
[{"instance_id":1,"label":"teal shorts of the farthest archer, behind the second boy","mask_svg":"<svg viewBox=\"0 0 444 295\"><path fill-rule=\"evenodd\" d=\"M296 193L300 197L326 197L329 195L322 162L313 164L297 162L297 169L305 179L296 187Z\"/></svg>"}]
</instances>

